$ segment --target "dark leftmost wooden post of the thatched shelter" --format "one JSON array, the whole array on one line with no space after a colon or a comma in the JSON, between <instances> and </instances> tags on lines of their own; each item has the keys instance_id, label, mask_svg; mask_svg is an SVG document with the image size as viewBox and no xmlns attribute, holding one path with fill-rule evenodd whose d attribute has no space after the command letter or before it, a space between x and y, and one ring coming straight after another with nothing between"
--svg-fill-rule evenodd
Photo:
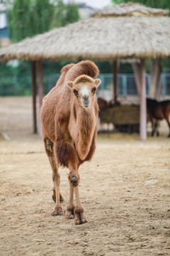
<instances>
[{"instance_id":1,"label":"dark leftmost wooden post of the thatched shelter","mask_svg":"<svg viewBox=\"0 0 170 256\"><path fill-rule=\"evenodd\" d=\"M33 99L33 133L37 133L37 110L36 110L36 62L31 61L31 85Z\"/></svg>"}]
</instances>

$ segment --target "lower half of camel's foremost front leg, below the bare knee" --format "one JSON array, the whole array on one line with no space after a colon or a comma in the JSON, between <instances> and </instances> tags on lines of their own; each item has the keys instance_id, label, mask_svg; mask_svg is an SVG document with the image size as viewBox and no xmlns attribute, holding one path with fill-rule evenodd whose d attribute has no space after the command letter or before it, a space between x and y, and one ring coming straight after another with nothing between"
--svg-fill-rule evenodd
<instances>
[{"instance_id":1,"label":"lower half of camel's foremost front leg, below the bare knee","mask_svg":"<svg viewBox=\"0 0 170 256\"><path fill-rule=\"evenodd\" d=\"M74 209L74 223L76 225L81 225L87 222L86 216L84 215L84 208L81 206L80 200L79 200L79 186L74 188L74 194L76 198L76 207Z\"/></svg>"}]
</instances>

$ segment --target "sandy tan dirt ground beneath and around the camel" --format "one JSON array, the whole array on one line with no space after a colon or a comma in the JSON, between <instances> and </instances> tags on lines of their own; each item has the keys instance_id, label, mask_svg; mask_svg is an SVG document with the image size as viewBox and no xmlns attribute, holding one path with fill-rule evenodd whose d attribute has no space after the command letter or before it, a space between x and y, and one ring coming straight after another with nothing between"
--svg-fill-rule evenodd
<instances>
[{"instance_id":1,"label":"sandy tan dirt ground beneath and around the camel","mask_svg":"<svg viewBox=\"0 0 170 256\"><path fill-rule=\"evenodd\" d=\"M30 97L0 98L0 255L170 255L170 139L98 135L94 159L80 168L88 223L51 216L52 171L31 134ZM6 139L4 139L4 136ZM60 169L65 208L68 169Z\"/></svg>"}]
</instances>

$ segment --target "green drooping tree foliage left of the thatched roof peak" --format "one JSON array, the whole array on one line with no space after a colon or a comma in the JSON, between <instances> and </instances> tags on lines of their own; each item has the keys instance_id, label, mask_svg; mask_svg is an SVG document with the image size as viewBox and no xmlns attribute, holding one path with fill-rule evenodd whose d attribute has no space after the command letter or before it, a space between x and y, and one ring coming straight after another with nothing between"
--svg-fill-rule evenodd
<instances>
[{"instance_id":1,"label":"green drooping tree foliage left of the thatched roof peak","mask_svg":"<svg viewBox=\"0 0 170 256\"><path fill-rule=\"evenodd\" d=\"M13 0L8 6L8 28L12 42L79 20L78 6L65 5L62 0Z\"/></svg>"}]
</instances>

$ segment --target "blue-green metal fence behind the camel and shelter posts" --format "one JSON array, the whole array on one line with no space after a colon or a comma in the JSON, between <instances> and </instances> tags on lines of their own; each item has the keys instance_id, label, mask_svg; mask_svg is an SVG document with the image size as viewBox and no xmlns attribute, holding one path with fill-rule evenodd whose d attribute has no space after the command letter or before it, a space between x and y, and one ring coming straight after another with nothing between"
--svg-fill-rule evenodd
<instances>
[{"instance_id":1,"label":"blue-green metal fence behind the camel and shelter posts","mask_svg":"<svg viewBox=\"0 0 170 256\"><path fill-rule=\"evenodd\" d=\"M45 94L55 86L60 74L50 74L44 76ZM112 90L113 75L100 74L101 85L99 91ZM150 75L146 75L147 95L149 95ZM170 96L170 73L162 73L161 75L161 92L162 98ZM0 79L0 96L20 96L31 95L31 78L30 75L8 75ZM137 96L134 74L118 74L118 95Z\"/></svg>"}]
</instances>

